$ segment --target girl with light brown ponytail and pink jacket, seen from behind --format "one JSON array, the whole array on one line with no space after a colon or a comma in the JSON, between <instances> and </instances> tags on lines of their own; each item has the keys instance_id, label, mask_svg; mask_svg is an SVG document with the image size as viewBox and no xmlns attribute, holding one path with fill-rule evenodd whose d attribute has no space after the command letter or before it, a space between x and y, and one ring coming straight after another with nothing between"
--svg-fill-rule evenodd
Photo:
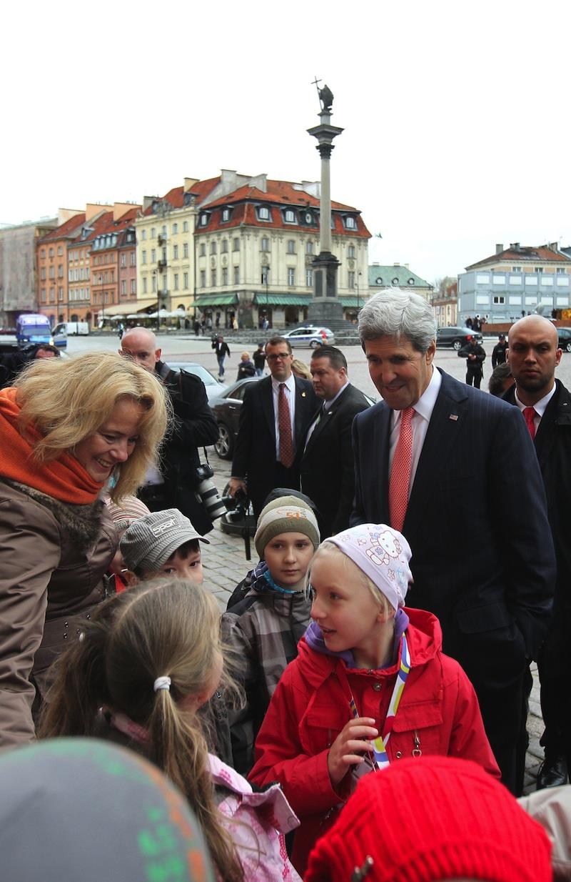
<instances>
[{"instance_id":1,"label":"girl with light brown ponytail and pink jacket, seen from behind","mask_svg":"<svg viewBox=\"0 0 571 882\"><path fill-rule=\"evenodd\" d=\"M299 882L281 790L254 794L208 752L197 711L219 684L238 692L214 597L179 579L142 583L102 603L60 657L40 736L105 737L151 759L187 796L224 882Z\"/></svg>"}]
</instances>

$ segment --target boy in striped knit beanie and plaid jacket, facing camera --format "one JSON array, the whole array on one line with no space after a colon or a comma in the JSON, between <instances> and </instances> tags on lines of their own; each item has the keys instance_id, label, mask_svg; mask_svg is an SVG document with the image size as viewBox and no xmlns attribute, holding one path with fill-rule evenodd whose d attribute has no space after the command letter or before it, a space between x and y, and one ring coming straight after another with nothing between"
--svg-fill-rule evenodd
<instances>
[{"instance_id":1,"label":"boy in striped knit beanie and plaid jacket, facing camera","mask_svg":"<svg viewBox=\"0 0 571 882\"><path fill-rule=\"evenodd\" d=\"M246 692L245 706L230 714L234 768L244 775L254 764L254 742L273 691L309 624L306 574L319 545L311 505L293 496L274 499L260 513L254 542L260 562L248 573L248 593L222 616L222 634Z\"/></svg>"}]
</instances>

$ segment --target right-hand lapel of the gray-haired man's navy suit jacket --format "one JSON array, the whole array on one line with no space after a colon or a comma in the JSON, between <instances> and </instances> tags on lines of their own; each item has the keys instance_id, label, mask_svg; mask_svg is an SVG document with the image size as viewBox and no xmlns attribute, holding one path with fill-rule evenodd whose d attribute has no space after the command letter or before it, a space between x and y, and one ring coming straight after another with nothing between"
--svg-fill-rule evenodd
<instances>
[{"instance_id":1,"label":"right-hand lapel of the gray-haired man's navy suit jacket","mask_svg":"<svg viewBox=\"0 0 571 882\"><path fill-rule=\"evenodd\" d=\"M426 500L433 493L434 484L446 471L449 453L456 444L458 432L463 428L466 410L466 398L458 400L449 395L445 387L445 377L426 431L419 465L412 484L411 498L404 517L403 532L411 541L410 536L426 524Z\"/></svg>"}]
</instances>

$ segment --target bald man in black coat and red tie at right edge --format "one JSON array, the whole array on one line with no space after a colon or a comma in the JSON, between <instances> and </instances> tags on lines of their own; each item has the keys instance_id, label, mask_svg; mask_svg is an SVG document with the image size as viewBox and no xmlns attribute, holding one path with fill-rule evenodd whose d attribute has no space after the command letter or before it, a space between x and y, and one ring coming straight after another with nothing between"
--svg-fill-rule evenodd
<instances>
[{"instance_id":1,"label":"bald man in black coat and red tie at right edge","mask_svg":"<svg viewBox=\"0 0 571 882\"><path fill-rule=\"evenodd\" d=\"M557 561L552 625L538 656L545 723L538 789L566 784L571 768L571 394L555 379L560 358L557 330L546 318L526 316L509 329L515 386L504 400L523 412L538 454Z\"/></svg>"}]
</instances>

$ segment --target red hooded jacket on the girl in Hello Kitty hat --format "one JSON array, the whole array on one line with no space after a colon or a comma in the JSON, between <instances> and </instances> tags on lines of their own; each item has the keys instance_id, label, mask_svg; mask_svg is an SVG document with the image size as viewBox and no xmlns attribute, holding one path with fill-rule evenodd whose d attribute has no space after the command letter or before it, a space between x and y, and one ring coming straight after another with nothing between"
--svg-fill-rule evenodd
<instances>
[{"instance_id":1,"label":"red hooded jacket on the girl in Hello Kitty hat","mask_svg":"<svg viewBox=\"0 0 571 882\"><path fill-rule=\"evenodd\" d=\"M423 609L405 612L411 671L387 744L390 762L431 754L472 759L499 779L476 693L460 665L442 653L438 619ZM271 699L248 777L258 786L271 781L282 785L301 822L292 862L303 876L309 851L348 796L332 788L327 769L329 748L351 719L338 666L345 668L360 716L374 717L382 730L400 658L390 668L369 671L347 668L341 659L315 652L305 638L298 649Z\"/></svg>"}]
</instances>

